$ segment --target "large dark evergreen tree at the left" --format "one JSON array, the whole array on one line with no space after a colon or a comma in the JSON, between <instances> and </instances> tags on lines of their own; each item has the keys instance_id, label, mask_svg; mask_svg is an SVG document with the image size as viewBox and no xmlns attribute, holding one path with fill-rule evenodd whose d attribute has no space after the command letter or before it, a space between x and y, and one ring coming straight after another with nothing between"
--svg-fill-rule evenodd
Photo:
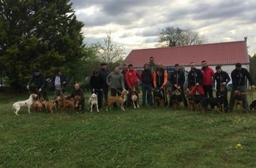
<instances>
[{"instance_id":1,"label":"large dark evergreen tree at the left","mask_svg":"<svg viewBox=\"0 0 256 168\"><path fill-rule=\"evenodd\" d=\"M54 67L83 57L83 23L68 3L0 1L0 71L11 86L26 84L34 67L50 77Z\"/></svg>"}]
</instances>

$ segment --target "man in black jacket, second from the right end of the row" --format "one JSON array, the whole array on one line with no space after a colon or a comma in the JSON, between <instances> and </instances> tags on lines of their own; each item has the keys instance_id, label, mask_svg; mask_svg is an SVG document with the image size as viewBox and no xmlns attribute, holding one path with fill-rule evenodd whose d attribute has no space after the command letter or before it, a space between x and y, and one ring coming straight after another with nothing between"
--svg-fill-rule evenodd
<instances>
[{"instance_id":1,"label":"man in black jacket, second from the right end of the row","mask_svg":"<svg viewBox=\"0 0 256 168\"><path fill-rule=\"evenodd\" d=\"M214 77L212 79L212 87L214 88L214 91L216 91L216 96L219 97L221 84L224 84L227 86L227 83L230 82L230 76L227 74L227 72L222 71L222 68L220 66L216 66L215 69L216 69L216 72L214 73ZM216 81L216 86L215 86L215 81ZM227 106L228 106L227 87L225 88L225 97L224 98L225 98L224 109L225 109L225 112L227 112Z\"/></svg>"}]
</instances>

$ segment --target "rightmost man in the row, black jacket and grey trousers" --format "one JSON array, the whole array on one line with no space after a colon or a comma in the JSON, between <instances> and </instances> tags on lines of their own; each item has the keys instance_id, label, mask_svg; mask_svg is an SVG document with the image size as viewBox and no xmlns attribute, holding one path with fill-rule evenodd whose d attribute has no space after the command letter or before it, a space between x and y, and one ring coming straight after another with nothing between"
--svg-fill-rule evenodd
<instances>
[{"instance_id":1,"label":"rightmost man in the row, black jacket and grey trousers","mask_svg":"<svg viewBox=\"0 0 256 168\"><path fill-rule=\"evenodd\" d=\"M231 72L231 79L232 79L232 90L230 94L230 104L228 107L228 110L231 112L233 110L233 106L235 104L235 91L240 91L241 93L246 93L246 79L249 80L249 84L252 86L252 89L255 89L254 82L252 80L251 75L247 71L247 69L241 67L241 63L236 63L236 69L234 69ZM246 78L245 78L246 77ZM247 102L247 96L246 94L241 94L241 98L243 101L243 106L244 106L244 112L249 111L249 105Z\"/></svg>"}]
</instances>

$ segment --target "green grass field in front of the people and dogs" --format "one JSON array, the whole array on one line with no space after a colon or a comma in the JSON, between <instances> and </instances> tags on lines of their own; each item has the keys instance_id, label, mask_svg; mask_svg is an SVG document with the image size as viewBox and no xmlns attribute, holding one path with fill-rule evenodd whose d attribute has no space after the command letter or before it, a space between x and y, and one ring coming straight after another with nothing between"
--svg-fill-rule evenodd
<instances>
[{"instance_id":1,"label":"green grass field in front of the people and dogs","mask_svg":"<svg viewBox=\"0 0 256 168\"><path fill-rule=\"evenodd\" d=\"M256 112L15 115L12 103L27 98L0 96L0 167L256 167Z\"/></svg>"}]
</instances>

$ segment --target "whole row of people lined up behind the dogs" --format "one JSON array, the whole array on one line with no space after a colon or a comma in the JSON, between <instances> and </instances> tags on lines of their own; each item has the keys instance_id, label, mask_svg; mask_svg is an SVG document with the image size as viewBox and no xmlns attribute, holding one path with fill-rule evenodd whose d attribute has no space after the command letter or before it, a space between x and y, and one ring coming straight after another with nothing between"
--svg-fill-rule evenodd
<instances>
[{"instance_id":1,"label":"whole row of people lined up behind the dogs","mask_svg":"<svg viewBox=\"0 0 256 168\"><path fill-rule=\"evenodd\" d=\"M124 102L124 106L131 106L131 89L135 87L138 89L139 85L141 85L142 89L142 106L146 106L146 104L153 106L153 95L152 88L157 89L162 92L162 96L164 97L165 106L168 105L167 101L167 82L170 81L172 91L179 91L181 96L184 98L184 107L188 107L187 99L185 98L184 93L184 83L186 82L185 72L180 68L179 64L174 65L175 70L170 72L170 76L168 77L167 70L163 68L162 63L155 64L154 57L149 58L149 63L144 64L143 71L139 74L137 70L133 69L132 64L123 64L122 71L118 66L115 67L113 72L110 72L107 64L102 63L101 69L94 70L90 77L90 87L91 93L96 93L98 98L98 107L102 108L102 102L108 102L108 91L110 88L110 96L120 96L121 91L124 89L129 91L127 96L127 101ZM220 87L222 84L227 85L227 83L232 80L233 88L230 93L230 101L227 101L227 88L225 91L225 102L224 108L225 112L232 111L233 105L235 102L234 93L235 91L246 92L246 79L249 80L249 84L252 86L252 89L255 89L254 82L252 80L249 72L241 67L240 63L236 64L236 69L231 72L231 79L227 72L222 71L221 66L216 66L216 72L208 66L206 61L202 61L201 69L195 68L195 63L190 63L190 71L187 75L187 91L192 91L192 94L195 95L197 92L201 97L210 97L213 98L213 91L216 91L216 97L223 96L220 95ZM37 86L37 91L42 92L43 98L48 100L47 94L47 83L45 76L39 72L39 69L33 70L34 75L29 80L27 84L27 88L29 89L29 85L31 83L35 83ZM53 83L54 87L54 99L57 96L65 95L65 85L67 84L67 78L63 75L59 68L54 70L54 75L50 82ZM81 112L85 110L85 99L83 95L83 89L80 88L78 83L75 83L75 88L70 94L67 96L68 98L80 96L80 104L81 104ZM138 96L138 93L137 93ZM247 102L246 94L242 96L244 103L244 111L247 112L249 110L249 104ZM171 106L171 102L169 106ZM113 107L117 107L117 104L113 104ZM211 109L214 109L214 106L211 106Z\"/></svg>"}]
</instances>

